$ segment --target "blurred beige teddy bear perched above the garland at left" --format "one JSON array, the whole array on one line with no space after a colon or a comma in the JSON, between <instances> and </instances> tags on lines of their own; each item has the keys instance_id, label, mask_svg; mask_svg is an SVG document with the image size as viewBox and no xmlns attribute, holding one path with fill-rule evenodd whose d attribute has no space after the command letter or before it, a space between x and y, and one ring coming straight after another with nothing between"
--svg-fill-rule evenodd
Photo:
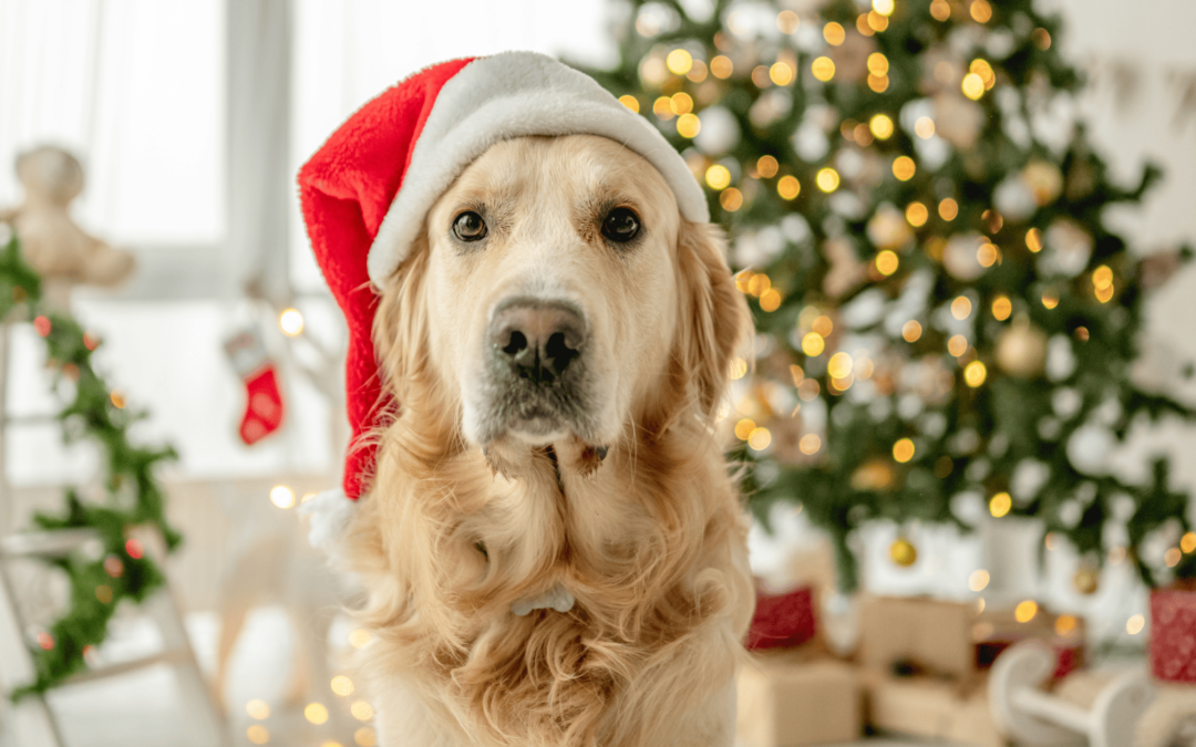
<instances>
[{"instance_id":1,"label":"blurred beige teddy bear perched above the garland at left","mask_svg":"<svg viewBox=\"0 0 1196 747\"><path fill-rule=\"evenodd\" d=\"M41 146L17 158L17 178L25 201L0 210L22 241L22 253L42 276L45 300L66 308L79 283L115 286L133 271L133 255L112 249L71 219L71 201L84 186L79 160L54 146Z\"/></svg>"}]
</instances>

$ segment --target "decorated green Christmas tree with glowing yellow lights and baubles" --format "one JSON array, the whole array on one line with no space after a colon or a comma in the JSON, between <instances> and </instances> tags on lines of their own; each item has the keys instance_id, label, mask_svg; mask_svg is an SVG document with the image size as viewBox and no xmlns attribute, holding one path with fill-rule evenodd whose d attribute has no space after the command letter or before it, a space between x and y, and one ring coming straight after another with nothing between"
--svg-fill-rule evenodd
<instances>
[{"instance_id":1,"label":"decorated green Christmas tree with glowing yellow lights and baubles","mask_svg":"<svg viewBox=\"0 0 1196 747\"><path fill-rule=\"evenodd\" d=\"M757 515L800 501L848 587L862 523L977 513L1041 519L1091 573L1121 552L1152 584L1196 575L1167 461L1142 484L1105 467L1142 416L1192 415L1130 378L1143 289L1178 256L1143 262L1103 222L1158 172L1110 180L1068 114L1058 20L1031 0L695 5L634 0L618 66L587 72L682 151L731 235L759 336L727 415Z\"/></svg>"}]
</instances>

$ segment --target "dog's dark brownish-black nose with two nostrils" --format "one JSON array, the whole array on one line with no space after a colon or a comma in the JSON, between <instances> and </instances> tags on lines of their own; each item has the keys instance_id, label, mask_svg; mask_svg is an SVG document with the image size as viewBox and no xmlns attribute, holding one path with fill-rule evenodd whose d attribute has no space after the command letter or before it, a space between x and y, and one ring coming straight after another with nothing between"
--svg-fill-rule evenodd
<instances>
[{"instance_id":1,"label":"dog's dark brownish-black nose with two nostrils","mask_svg":"<svg viewBox=\"0 0 1196 747\"><path fill-rule=\"evenodd\" d=\"M490 322L494 355L521 379L551 384L580 354L586 325L572 304L517 298Z\"/></svg>"}]
</instances>

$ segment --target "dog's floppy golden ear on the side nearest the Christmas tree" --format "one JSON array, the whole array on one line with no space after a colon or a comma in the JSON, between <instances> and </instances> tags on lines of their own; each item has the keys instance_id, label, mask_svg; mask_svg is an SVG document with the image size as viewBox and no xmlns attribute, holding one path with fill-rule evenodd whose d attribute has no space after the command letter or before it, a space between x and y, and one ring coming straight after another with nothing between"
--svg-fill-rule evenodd
<instances>
[{"instance_id":1,"label":"dog's floppy golden ear on the side nearest the Christmas tree","mask_svg":"<svg viewBox=\"0 0 1196 747\"><path fill-rule=\"evenodd\" d=\"M731 360L751 336L751 312L725 259L722 229L682 220L679 267L679 351L690 392L706 417L722 398Z\"/></svg>"}]
</instances>

